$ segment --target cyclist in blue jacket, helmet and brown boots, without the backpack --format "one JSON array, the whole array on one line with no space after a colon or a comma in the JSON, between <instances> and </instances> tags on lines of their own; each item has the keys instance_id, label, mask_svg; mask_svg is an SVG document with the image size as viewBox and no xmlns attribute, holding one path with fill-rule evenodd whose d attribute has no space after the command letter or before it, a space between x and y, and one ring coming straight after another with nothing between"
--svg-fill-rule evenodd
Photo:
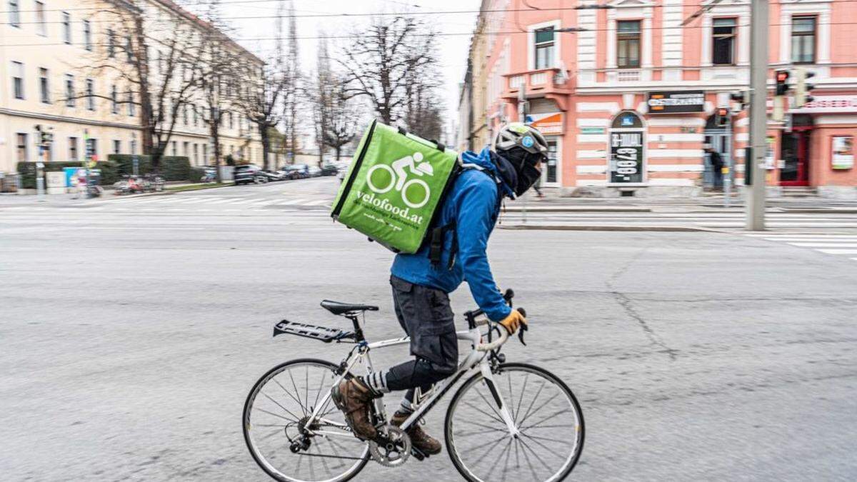
<instances>
[{"instance_id":1,"label":"cyclist in blue jacket, helmet and brown boots, without the backpack","mask_svg":"<svg viewBox=\"0 0 857 482\"><path fill-rule=\"evenodd\" d=\"M526 324L524 316L510 309L500 295L485 250L503 198L521 196L541 178L547 152L548 143L538 130L512 123L500 129L494 150L486 147L479 154L461 154L465 169L446 195L437 224L451 226L442 238L440 262L430 261L431 246L427 245L415 254L397 255L391 268L396 316L411 336L411 355L415 358L387 371L343 380L332 390L334 403L345 413L356 437L371 440L377 435L369 419L373 399L390 391L407 390L390 420L393 425L402 425L418 403L415 389L424 393L432 383L456 371L458 340L448 293L463 280L479 308L509 334ZM419 424L411 425L408 435L413 446L424 453L440 453L440 442Z\"/></svg>"}]
</instances>

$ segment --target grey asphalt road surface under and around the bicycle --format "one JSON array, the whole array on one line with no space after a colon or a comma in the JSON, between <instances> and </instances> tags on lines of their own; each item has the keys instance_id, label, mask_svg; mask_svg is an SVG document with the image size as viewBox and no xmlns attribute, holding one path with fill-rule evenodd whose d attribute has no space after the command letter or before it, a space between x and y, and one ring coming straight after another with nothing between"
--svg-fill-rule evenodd
<instances>
[{"instance_id":1,"label":"grey asphalt road surface under and around the bicycle","mask_svg":"<svg viewBox=\"0 0 857 482\"><path fill-rule=\"evenodd\" d=\"M273 324L345 327L318 306L333 298L380 304L366 333L399 335L391 255L321 205L280 203L330 186L0 208L2 479L265 480L241 435L249 388L346 351L273 339ZM857 262L715 232L498 230L489 256L530 314L509 359L583 406L571 479L857 479ZM472 307L466 287L452 299ZM381 478L458 474L443 454L357 477Z\"/></svg>"}]
</instances>

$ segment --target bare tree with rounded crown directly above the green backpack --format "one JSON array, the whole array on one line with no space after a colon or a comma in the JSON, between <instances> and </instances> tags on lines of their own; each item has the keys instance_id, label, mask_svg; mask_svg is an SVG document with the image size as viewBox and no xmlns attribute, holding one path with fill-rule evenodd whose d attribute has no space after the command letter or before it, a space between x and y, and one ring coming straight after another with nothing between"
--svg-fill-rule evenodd
<instances>
[{"instance_id":1,"label":"bare tree with rounded crown directly above the green backpack","mask_svg":"<svg viewBox=\"0 0 857 482\"><path fill-rule=\"evenodd\" d=\"M435 33L413 17L376 19L368 31L343 50L339 65L345 71L348 97L364 97L381 121L393 124L405 117L415 85L436 81ZM434 75L434 77L433 77Z\"/></svg>"}]
</instances>

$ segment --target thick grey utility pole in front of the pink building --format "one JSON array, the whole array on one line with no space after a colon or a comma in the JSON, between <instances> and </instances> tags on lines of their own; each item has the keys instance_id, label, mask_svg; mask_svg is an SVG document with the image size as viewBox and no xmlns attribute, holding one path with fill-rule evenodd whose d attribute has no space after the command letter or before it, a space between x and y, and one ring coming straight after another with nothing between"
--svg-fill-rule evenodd
<instances>
[{"instance_id":1,"label":"thick grey utility pole in front of the pink building","mask_svg":"<svg viewBox=\"0 0 857 482\"><path fill-rule=\"evenodd\" d=\"M750 7L750 149L752 185L747 190L746 229L764 230L764 156L768 127L768 0L752 0Z\"/></svg>"}]
</instances>

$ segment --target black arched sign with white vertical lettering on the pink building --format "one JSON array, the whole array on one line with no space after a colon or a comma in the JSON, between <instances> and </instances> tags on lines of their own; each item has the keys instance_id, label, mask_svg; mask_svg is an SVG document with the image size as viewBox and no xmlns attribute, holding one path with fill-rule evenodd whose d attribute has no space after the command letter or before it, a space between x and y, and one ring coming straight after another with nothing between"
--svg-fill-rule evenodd
<instances>
[{"instance_id":1,"label":"black arched sign with white vertical lettering on the pink building","mask_svg":"<svg viewBox=\"0 0 857 482\"><path fill-rule=\"evenodd\" d=\"M608 184L642 184L644 171L643 121L633 111L622 111L610 129Z\"/></svg>"}]
</instances>

